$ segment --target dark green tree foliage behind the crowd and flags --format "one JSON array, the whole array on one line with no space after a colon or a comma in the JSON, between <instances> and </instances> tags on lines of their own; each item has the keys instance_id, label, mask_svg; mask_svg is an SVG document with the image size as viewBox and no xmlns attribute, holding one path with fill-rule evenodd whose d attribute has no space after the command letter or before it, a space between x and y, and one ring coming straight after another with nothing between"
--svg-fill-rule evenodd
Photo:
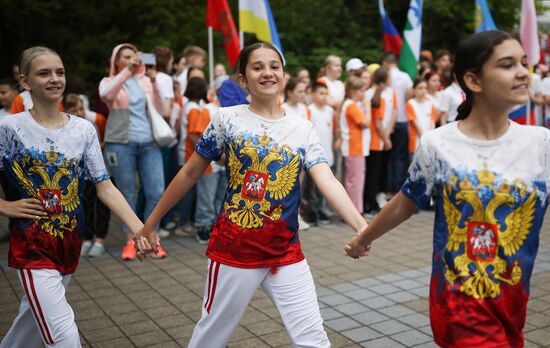
<instances>
[{"instance_id":1,"label":"dark green tree foliage behind the crowd and flags","mask_svg":"<svg viewBox=\"0 0 550 348\"><path fill-rule=\"evenodd\" d=\"M238 21L237 0L228 1ZM382 53L377 1L272 0L290 71L304 66L315 74L328 54L371 63ZM385 1L396 28L405 25L409 0ZM521 0L489 0L499 29L518 27ZM105 75L112 48L131 42L142 51L165 45L181 52L187 44L207 48L206 1L191 0L0 0L0 67L9 76L21 51L33 45L57 50L68 75L78 74L92 88ZM474 0L426 0L423 48L453 51L473 32ZM246 34L245 41L255 41ZM226 62L215 34L215 59Z\"/></svg>"}]
</instances>

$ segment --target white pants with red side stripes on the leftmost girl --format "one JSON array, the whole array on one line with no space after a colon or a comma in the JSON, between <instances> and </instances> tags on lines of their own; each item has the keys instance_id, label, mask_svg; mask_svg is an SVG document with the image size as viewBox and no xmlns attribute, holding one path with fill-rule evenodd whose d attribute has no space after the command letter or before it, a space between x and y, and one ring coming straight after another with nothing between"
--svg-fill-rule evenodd
<instances>
[{"instance_id":1,"label":"white pants with red side stripes on the leftmost girl","mask_svg":"<svg viewBox=\"0 0 550 348\"><path fill-rule=\"evenodd\" d=\"M25 296L0 348L80 347L74 313L65 298L71 276L54 269L17 272Z\"/></svg>"}]
</instances>

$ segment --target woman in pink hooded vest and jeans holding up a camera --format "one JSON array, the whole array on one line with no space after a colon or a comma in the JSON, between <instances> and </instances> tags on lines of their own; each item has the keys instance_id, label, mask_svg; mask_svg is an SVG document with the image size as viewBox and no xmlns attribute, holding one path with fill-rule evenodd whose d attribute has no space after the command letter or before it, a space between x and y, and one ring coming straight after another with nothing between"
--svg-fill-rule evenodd
<instances>
[{"instance_id":1,"label":"woman in pink hooded vest and jeans holding up a camera","mask_svg":"<svg viewBox=\"0 0 550 348\"><path fill-rule=\"evenodd\" d=\"M105 129L105 159L111 176L136 210L136 174L145 195L146 219L164 191L164 174L160 148L153 141L149 113L164 111L156 83L156 70L145 68L135 46L120 44L111 55L110 76L99 85L101 99L109 106ZM136 257L132 234L127 226L124 260ZM158 256L166 253L159 249Z\"/></svg>"}]
</instances>

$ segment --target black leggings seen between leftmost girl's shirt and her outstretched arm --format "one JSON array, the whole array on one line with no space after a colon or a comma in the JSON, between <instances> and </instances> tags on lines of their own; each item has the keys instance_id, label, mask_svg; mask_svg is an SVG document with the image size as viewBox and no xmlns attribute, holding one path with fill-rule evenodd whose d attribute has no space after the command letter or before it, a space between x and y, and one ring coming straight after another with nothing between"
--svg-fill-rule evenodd
<instances>
[{"instance_id":1,"label":"black leggings seen between leftmost girl's shirt and her outstretched arm","mask_svg":"<svg viewBox=\"0 0 550 348\"><path fill-rule=\"evenodd\" d=\"M84 240L92 240L94 236L104 239L109 230L111 211L97 198L95 185L90 181L84 184L84 213L86 216Z\"/></svg>"}]
</instances>

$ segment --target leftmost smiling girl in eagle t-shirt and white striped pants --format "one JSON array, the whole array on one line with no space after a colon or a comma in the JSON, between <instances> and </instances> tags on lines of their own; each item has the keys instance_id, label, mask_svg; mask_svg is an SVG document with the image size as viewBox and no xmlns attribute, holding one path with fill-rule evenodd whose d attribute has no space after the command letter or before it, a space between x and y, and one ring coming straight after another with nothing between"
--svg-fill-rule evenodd
<instances>
[{"instance_id":1,"label":"leftmost smiling girl in eagle t-shirt and white striped pants","mask_svg":"<svg viewBox=\"0 0 550 348\"><path fill-rule=\"evenodd\" d=\"M59 55L29 48L20 72L34 106L0 121L0 167L19 195L0 200L0 213L15 219L9 266L17 269L25 295L0 347L80 347L65 291L84 236L86 174L99 199L132 231L143 224L109 180L94 126L58 109L65 89Z\"/></svg>"}]
</instances>

